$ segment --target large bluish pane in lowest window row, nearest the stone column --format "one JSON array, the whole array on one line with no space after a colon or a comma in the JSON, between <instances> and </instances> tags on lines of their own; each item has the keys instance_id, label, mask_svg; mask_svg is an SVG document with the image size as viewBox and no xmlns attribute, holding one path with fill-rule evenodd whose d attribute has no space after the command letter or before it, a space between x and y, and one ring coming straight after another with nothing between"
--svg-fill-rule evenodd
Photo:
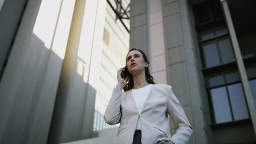
<instances>
[{"instance_id":1,"label":"large bluish pane in lowest window row, nearest the stone column","mask_svg":"<svg viewBox=\"0 0 256 144\"><path fill-rule=\"evenodd\" d=\"M225 87L211 89L211 96L216 123L232 121Z\"/></svg>"}]
</instances>

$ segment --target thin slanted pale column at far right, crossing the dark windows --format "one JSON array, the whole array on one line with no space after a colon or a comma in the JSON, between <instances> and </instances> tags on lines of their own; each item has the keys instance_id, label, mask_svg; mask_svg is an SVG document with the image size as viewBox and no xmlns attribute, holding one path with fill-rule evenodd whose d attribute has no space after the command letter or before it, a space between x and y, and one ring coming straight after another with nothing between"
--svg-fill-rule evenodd
<instances>
[{"instance_id":1,"label":"thin slanted pale column at far right, crossing the dark windows","mask_svg":"<svg viewBox=\"0 0 256 144\"><path fill-rule=\"evenodd\" d=\"M220 0L220 2L222 3L222 7L223 7L225 18L226 18L226 23L228 24L229 33L230 33L230 37L231 37L233 49L235 52L237 65L238 65L238 71L241 76L243 90L245 91L246 102L249 108L249 113L250 113L250 117L253 124L254 134L256 136L256 109L255 109L256 106L254 105L254 102L253 102L251 88L249 86L248 77L246 75L245 64L243 63L240 47L238 45L235 28L232 23L232 18L229 11L228 2L226 0Z\"/></svg>"}]
</instances>

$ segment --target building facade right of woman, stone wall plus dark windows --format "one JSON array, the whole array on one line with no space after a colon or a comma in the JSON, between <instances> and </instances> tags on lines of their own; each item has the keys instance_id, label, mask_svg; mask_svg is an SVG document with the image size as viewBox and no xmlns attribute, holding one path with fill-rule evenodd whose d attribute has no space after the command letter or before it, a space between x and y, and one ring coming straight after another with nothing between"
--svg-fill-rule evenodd
<instances>
[{"instance_id":1,"label":"building facade right of woman, stone wall plus dark windows","mask_svg":"<svg viewBox=\"0 0 256 144\"><path fill-rule=\"evenodd\" d=\"M256 143L254 3L131 1L131 48L173 87L194 128L188 143Z\"/></svg>"}]
</instances>

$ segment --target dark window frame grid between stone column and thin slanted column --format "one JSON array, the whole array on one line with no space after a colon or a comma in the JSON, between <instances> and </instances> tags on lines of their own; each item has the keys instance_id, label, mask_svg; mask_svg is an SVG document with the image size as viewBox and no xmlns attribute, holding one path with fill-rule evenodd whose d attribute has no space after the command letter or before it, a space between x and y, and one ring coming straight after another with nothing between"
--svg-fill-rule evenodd
<instances>
[{"instance_id":1,"label":"dark window frame grid between stone column and thin slanted column","mask_svg":"<svg viewBox=\"0 0 256 144\"><path fill-rule=\"evenodd\" d=\"M229 91L228 91L228 86L229 85L233 85L235 83L242 83L241 82L241 77L239 75L239 71L237 69L237 60L236 60L236 57L235 57L235 53L234 53L234 49L233 49L233 45L232 45L232 41L229 37L229 29L227 29L227 33L223 33L223 34L218 34L216 35L215 34L215 31L214 29L216 28L219 28L219 27L226 27L226 22L224 20L224 15L223 15L223 10L222 10L222 17L219 17L218 19L211 19L211 21L208 21L208 22L204 22L204 23L199 23L199 18L196 14L196 7L197 5L199 4L202 4L202 3L208 3L207 5L209 5L209 3L211 3L211 1L200 1L200 2L197 2L195 4L192 4L192 11L194 13L194 22L195 22L195 32L196 32L196 35L197 36L200 36L199 34L202 33L203 31L208 31L208 30L211 30L214 32L214 37L210 37L210 38L207 38L207 39L204 39L204 40L201 40L201 37L197 37L197 43L199 44L199 52L200 52L200 55L201 55L201 62L202 62L202 65L203 65L203 68L202 68L202 73L203 73L203 77L205 78L205 83L207 83L208 85L208 77L207 75L208 74L214 74L216 73L216 71L219 71L219 70L222 70L224 73L224 71L227 71L228 69L236 69L237 71L237 74L238 74L238 77L240 80L236 80L236 81L232 81L232 82L226 82L226 76L224 76L224 84L223 85L218 85L218 86L214 86L214 87L222 87L224 86L225 87L225 90L226 90L226 94L227 94L227 97L228 97L228 101L229 101L229 107L230 107L230 111L231 111L231 117L232 117L232 121L230 122L223 122L223 123L216 123L216 117L214 115L214 109L213 109L213 101L212 101L212 95L211 95L211 92L210 92L210 89L213 88L213 87L207 87L206 88L206 92L207 92L207 99L208 99L208 104L210 105L210 113L211 113L211 120L212 120L212 124L211 126L213 127L218 127L219 125L229 125L229 124L234 124L234 123L243 123L243 122L247 122L248 119L250 119L250 116L249 118L246 118L246 119L239 119L239 120L235 120L234 119L234 112L232 110L232 105L231 105L231 100L230 100L230 94L229 94ZM208 9L210 10L210 13L211 13L211 18L212 18L212 9L210 8L210 6L208 6ZM222 8L220 8L222 9ZM231 44L231 51L233 53L233 56L234 56L234 61L232 62L228 62L228 63L224 63L223 64L223 60L222 60L222 55L221 55L221 52L220 52L220 47L219 47L219 44L218 44L218 39L221 39L223 37L226 37L228 36L229 40L230 40L230 44ZM220 60L220 64L219 65L216 65L216 66L213 66L213 67L209 67L209 68L206 68L206 58L205 58L205 55L203 53L203 43L207 42L207 41L210 41L210 40L214 40L214 43L216 43L217 45L217 51L218 51L218 56L219 56L219 60ZM249 60L247 61L250 61L252 62L252 59L253 58L248 58ZM250 60L251 59L251 60ZM256 57L254 58L256 59ZM245 59L244 59L245 60ZM245 91L243 89L243 86L242 86L242 91L243 91L243 95L245 97ZM246 109L248 111L248 104L247 104L247 101L245 101L246 103Z\"/></svg>"}]
</instances>

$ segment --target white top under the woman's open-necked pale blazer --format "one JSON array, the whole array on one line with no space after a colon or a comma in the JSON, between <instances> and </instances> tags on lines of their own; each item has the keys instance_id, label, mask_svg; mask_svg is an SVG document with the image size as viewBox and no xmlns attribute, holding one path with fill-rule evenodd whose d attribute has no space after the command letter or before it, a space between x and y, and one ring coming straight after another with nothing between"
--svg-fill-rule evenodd
<instances>
[{"instance_id":1,"label":"white top under the woman's open-necked pale blazer","mask_svg":"<svg viewBox=\"0 0 256 144\"><path fill-rule=\"evenodd\" d=\"M143 106L149 96L149 93L152 88L152 84L149 84L148 86L138 88L138 89L131 89L133 99L135 100L138 113L141 113ZM138 117L137 126L136 129L141 130L141 119Z\"/></svg>"}]
</instances>

